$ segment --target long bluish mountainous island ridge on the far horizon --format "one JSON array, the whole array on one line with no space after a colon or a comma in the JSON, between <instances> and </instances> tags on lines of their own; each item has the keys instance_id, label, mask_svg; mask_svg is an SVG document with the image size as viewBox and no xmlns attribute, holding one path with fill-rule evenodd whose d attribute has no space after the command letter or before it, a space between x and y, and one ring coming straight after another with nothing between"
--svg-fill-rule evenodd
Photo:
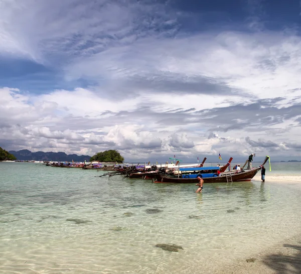
<instances>
[{"instance_id":1,"label":"long bluish mountainous island ridge on the far horizon","mask_svg":"<svg viewBox=\"0 0 301 274\"><path fill-rule=\"evenodd\" d=\"M70 154L64 152L31 152L29 150L9 151L15 159L20 161L54 161L54 162L85 162L89 161L91 156ZM14 159L14 160L15 160Z\"/></svg>"}]
</instances>

